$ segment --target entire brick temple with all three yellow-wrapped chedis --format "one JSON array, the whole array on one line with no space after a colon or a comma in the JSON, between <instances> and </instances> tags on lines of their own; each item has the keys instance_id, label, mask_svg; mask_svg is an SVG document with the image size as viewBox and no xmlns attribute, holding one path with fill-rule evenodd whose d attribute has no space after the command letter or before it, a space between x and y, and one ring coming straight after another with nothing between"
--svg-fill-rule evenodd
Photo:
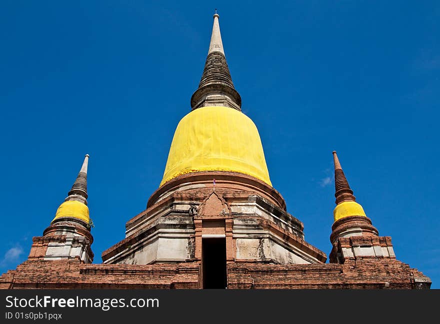
<instances>
[{"instance_id":1,"label":"entire brick temple with all three yellow-wrapped chedis","mask_svg":"<svg viewBox=\"0 0 440 324\"><path fill-rule=\"evenodd\" d=\"M2 275L0 288L430 287L429 278L396 260L391 238L379 236L336 152L329 263L304 240L303 224L272 187L258 131L240 111L218 14L190 103L158 189L127 221L125 239L102 253L102 264L91 263L86 156L50 226L33 238L28 260Z\"/></svg>"}]
</instances>

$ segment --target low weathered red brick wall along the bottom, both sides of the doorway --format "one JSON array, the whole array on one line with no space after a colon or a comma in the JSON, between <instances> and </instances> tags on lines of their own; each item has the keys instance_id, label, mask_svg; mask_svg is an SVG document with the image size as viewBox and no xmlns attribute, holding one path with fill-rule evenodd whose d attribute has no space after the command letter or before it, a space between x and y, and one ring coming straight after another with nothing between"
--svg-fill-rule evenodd
<instances>
[{"instance_id":1,"label":"low weathered red brick wall along the bottom, both sides of the doorway","mask_svg":"<svg viewBox=\"0 0 440 324\"><path fill-rule=\"evenodd\" d=\"M96 265L79 260L26 261L0 277L0 289L198 289L198 262ZM344 264L231 262L229 289L414 289L423 275L394 259ZM428 288L424 286L421 288Z\"/></svg>"}]
</instances>

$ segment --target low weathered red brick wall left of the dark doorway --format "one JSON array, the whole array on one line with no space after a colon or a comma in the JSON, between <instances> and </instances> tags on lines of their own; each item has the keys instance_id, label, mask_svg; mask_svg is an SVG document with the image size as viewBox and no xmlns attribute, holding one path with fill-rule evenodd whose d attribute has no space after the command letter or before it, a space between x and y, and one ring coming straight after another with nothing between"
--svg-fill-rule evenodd
<instances>
[{"instance_id":1,"label":"low weathered red brick wall left of the dark doorway","mask_svg":"<svg viewBox=\"0 0 440 324\"><path fill-rule=\"evenodd\" d=\"M198 263L97 265L79 260L26 261L0 277L7 289L194 289Z\"/></svg>"}]
</instances>

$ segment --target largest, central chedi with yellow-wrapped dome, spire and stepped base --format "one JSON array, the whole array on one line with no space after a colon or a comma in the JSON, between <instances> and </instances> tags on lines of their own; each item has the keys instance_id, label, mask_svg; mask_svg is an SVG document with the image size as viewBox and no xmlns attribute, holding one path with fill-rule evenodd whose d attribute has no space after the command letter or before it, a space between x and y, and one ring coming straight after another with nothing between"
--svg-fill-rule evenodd
<instances>
[{"instance_id":1,"label":"largest, central chedi with yellow-wrapped dome, spire and stepped base","mask_svg":"<svg viewBox=\"0 0 440 324\"><path fill-rule=\"evenodd\" d=\"M227 262L325 262L271 187L258 131L240 106L214 14L192 110L177 125L160 187L104 263L197 262L200 287L211 287L211 276L226 287Z\"/></svg>"}]
</instances>

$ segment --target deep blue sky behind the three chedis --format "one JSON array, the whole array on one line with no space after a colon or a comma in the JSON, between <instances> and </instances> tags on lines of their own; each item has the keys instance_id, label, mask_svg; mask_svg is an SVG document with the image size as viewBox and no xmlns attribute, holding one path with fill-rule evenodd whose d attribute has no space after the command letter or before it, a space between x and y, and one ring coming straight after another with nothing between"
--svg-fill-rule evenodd
<instances>
[{"instance_id":1,"label":"deep blue sky behind the three chedis","mask_svg":"<svg viewBox=\"0 0 440 324\"><path fill-rule=\"evenodd\" d=\"M397 259L440 288L438 1L1 1L0 273L27 258L85 153L94 262L123 239L190 111L215 7L306 241L331 250L336 150Z\"/></svg>"}]
</instances>

